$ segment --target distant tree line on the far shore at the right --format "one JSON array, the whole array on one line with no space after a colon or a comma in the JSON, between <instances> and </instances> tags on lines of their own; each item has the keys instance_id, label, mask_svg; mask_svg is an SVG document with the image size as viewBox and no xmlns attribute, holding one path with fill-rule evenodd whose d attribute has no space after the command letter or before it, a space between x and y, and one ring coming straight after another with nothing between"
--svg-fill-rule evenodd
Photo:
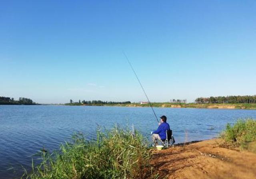
<instances>
[{"instance_id":1,"label":"distant tree line on the far shore at the right","mask_svg":"<svg viewBox=\"0 0 256 179\"><path fill-rule=\"evenodd\" d=\"M196 103L256 103L256 95L198 97Z\"/></svg>"}]
</instances>

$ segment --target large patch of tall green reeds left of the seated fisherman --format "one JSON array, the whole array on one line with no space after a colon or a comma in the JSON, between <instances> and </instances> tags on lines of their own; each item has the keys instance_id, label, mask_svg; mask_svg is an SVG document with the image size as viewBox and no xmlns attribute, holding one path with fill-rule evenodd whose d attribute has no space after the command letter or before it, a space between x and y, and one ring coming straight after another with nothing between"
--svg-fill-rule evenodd
<instances>
[{"instance_id":1,"label":"large patch of tall green reeds left of the seated fisherman","mask_svg":"<svg viewBox=\"0 0 256 179\"><path fill-rule=\"evenodd\" d=\"M22 178L30 179L134 179L146 178L152 157L142 135L118 127L97 132L97 139L86 141L75 134L72 142L59 151L40 152L41 163Z\"/></svg>"}]
</instances>

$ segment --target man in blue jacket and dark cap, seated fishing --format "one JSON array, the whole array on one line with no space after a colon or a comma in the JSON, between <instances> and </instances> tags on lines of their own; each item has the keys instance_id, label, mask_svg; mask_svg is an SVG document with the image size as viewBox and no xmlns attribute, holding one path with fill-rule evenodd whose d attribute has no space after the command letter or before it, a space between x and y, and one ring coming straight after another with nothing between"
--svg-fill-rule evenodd
<instances>
[{"instance_id":1,"label":"man in blue jacket and dark cap, seated fishing","mask_svg":"<svg viewBox=\"0 0 256 179\"><path fill-rule=\"evenodd\" d=\"M157 145L158 140L165 140L166 139L166 130L170 130L170 125L166 122L166 116L163 115L160 117L160 123L156 131L152 131L152 140L154 145Z\"/></svg>"}]
</instances>

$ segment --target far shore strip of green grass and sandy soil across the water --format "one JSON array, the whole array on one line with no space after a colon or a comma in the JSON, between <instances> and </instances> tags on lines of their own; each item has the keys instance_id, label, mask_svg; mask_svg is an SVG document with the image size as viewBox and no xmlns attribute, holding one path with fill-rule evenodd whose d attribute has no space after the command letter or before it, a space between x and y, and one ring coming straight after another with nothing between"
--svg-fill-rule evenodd
<instances>
[{"instance_id":1,"label":"far shore strip of green grass and sandy soil across the water","mask_svg":"<svg viewBox=\"0 0 256 179\"><path fill-rule=\"evenodd\" d=\"M68 104L66 104L68 105ZM83 104L81 104L83 105ZM150 107L148 103L130 103L130 104L107 104L95 106L120 106L120 107ZM171 108L198 108L198 109L256 109L256 103L152 103L153 107L171 107Z\"/></svg>"}]
</instances>

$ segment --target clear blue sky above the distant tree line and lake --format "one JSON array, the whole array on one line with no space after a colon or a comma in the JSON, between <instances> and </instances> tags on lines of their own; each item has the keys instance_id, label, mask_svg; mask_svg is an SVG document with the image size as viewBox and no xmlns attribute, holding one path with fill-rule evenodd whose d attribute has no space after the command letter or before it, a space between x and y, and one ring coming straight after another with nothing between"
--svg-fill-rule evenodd
<instances>
[{"instance_id":1,"label":"clear blue sky above the distant tree line and lake","mask_svg":"<svg viewBox=\"0 0 256 179\"><path fill-rule=\"evenodd\" d=\"M256 94L256 1L0 2L0 96L151 101Z\"/></svg>"}]
</instances>

